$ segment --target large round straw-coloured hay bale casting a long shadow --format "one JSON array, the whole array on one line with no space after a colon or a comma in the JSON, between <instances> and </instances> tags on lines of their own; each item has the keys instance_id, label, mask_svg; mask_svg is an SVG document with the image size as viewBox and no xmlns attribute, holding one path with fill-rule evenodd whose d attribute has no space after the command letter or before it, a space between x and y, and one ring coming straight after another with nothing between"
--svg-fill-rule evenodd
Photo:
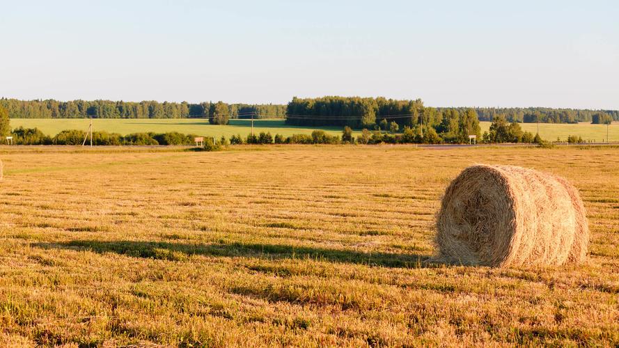
<instances>
[{"instance_id":1,"label":"large round straw-coloured hay bale casting a long shadow","mask_svg":"<svg viewBox=\"0 0 619 348\"><path fill-rule=\"evenodd\" d=\"M567 180L517 166L464 169L437 215L438 260L507 267L586 257L589 228Z\"/></svg>"}]
</instances>

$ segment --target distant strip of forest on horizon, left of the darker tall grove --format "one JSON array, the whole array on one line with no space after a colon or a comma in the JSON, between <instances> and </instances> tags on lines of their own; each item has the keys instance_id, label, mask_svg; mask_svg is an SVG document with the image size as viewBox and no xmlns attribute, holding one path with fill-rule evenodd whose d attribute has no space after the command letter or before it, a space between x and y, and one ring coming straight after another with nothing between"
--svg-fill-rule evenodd
<instances>
[{"instance_id":1,"label":"distant strip of forest on horizon, left of the darker tall grove","mask_svg":"<svg viewBox=\"0 0 619 348\"><path fill-rule=\"evenodd\" d=\"M205 118L218 103L202 102L113 102L110 100L57 100L0 99L10 118ZM225 104L225 103L224 103ZM276 104L225 104L230 118L283 118L285 105Z\"/></svg>"}]
</instances>

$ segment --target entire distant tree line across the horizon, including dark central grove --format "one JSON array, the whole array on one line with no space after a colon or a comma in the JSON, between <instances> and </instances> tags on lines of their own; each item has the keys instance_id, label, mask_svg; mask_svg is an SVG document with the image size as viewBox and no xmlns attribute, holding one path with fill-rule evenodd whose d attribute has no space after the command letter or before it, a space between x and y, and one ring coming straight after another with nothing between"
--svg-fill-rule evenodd
<instances>
[{"instance_id":1,"label":"entire distant tree line across the horizon, including dark central grove","mask_svg":"<svg viewBox=\"0 0 619 348\"><path fill-rule=\"evenodd\" d=\"M444 111L466 113L470 108L423 106L421 100L392 100L384 97L293 98L281 104L226 104L222 102L123 102L111 100L16 100L0 99L10 118L212 118L214 105L227 108L228 118L285 118L290 125L350 126L373 128L382 120L400 128L414 127L421 118L441 118ZM508 122L604 123L619 120L617 110L530 108L473 108L478 120L492 121L502 116Z\"/></svg>"}]
</instances>

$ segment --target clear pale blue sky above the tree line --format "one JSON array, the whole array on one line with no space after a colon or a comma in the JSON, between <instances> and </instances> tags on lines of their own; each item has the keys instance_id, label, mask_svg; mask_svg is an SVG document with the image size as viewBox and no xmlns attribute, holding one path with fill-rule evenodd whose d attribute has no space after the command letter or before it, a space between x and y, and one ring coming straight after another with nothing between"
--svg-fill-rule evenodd
<instances>
[{"instance_id":1,"label":"clear pale blue sky above the tree line","mask_svg":"<svg viewBox=\"0 0 619 348\"><path fill-rule=\"evenodd\" d=\"M614 1L0 1L0 97L619 109Z\"/></svg>"}]
</instances>

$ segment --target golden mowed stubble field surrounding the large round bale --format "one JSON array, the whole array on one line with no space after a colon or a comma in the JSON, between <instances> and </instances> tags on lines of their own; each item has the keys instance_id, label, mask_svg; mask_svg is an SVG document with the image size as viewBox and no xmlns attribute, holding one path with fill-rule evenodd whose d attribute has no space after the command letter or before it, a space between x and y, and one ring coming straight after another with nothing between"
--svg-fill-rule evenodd
<instances>
[{"instance_id":1,"label":"golden mowed stubble field surrounding the large round bale","mask_svg":"<svg viewBox=\"0 0 619 348\"><path fill-rule=\"evenodd\" d=\"M0 345L619 344L617 148L0 148ZM588 262L436 266L462 168L567 177Z\"/></svg>"}]
</instances>

